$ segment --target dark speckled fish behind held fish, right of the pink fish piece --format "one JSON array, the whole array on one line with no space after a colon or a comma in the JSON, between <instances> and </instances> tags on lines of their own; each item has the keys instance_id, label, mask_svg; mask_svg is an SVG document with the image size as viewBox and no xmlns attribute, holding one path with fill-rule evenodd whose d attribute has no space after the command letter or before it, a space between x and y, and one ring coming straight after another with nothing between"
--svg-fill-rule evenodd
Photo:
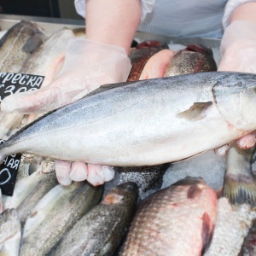
<instances>
[{"instance_id":1,"label":"dark speckled fish behind held fish, right of the pink fish piece","mask_svg":"<svg viewBox=\"0 0 256 256\"><path fill-rule=\"evenodd\" d=\"M172 56L164 77L209 71L217 71L212 49L200 44L189 44Z\"/></svg>"}]
</instances>

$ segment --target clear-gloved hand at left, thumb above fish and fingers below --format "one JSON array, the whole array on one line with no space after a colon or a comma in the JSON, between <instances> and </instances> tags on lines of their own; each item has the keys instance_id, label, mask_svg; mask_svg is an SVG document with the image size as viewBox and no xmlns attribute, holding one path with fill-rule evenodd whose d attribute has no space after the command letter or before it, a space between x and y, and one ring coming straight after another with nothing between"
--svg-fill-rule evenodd
<instances>
[{"instance_id":1,"label":"clear-gloved hand at left, thumb above fish and fingers below","mask_svg":"<svg viewBox=\"0 0 256 256\"><path fill-rule=\"evenodd\" d=\"M60 108L96 90L102 84L123 82L131 70L125 49L76 38L67 44L61 72L44 88L6 97L1 103L6 113L42 113ZM110 166L86 165L82 162L56 160L58 181L69 185L87 179L94 185L113 178Z\"/></svg>"}]
</instances>

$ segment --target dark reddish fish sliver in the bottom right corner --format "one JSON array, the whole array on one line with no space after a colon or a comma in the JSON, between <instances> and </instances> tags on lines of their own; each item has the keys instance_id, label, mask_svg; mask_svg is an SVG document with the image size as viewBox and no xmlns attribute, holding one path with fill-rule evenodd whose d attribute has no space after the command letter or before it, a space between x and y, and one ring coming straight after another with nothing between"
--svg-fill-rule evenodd
<instances>
[{"instance_id":1,"label":"dark reddish fish sliver in the bottom right corner","mask_svg":"<svg viewBox=\"0 0 256 256\"><path fill-rule=\"evenodd\" d=\"M253 226L249 230L243 244L239 256L256 255L256 220L253 221Z\"/></svg>"}]
</instances>

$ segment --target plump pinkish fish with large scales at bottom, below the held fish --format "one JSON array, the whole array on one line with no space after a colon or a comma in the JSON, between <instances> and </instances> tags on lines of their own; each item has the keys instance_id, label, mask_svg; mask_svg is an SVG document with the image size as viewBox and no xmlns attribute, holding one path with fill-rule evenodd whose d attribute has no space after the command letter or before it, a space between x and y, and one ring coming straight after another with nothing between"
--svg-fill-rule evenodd
<instances>
[{"instance_id":1,"label":"plump pinkish fish with large scales at bottom, below the held fish","mask_svg":"<svg viewBox=\"0 0 256 256\"><path fill-rule=\"evenodd\" d=\"M186 177L142 201L119 255L201 255L217 218L217 195Z\"/></svg>"}]
</instances>

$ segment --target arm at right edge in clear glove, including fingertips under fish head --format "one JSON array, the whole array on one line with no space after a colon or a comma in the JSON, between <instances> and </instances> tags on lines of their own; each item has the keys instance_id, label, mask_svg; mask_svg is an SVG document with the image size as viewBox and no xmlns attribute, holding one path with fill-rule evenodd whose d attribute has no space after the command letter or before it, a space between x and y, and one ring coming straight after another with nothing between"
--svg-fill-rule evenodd
<instances>
[{"instance_id":1,"label":"arm at right edge in clear glove, including fingertips under fish head","mask_svg":"<svg viewBox=\"0 0 256 256\"><path fill-rule=\"evenodd\" d=\"M233 1L234 3L237 1ZM218 71L256 73L256 1L243 3L224 19L222 61ZM241 148L256 142L255 132L236 141Z\"/></svg>"}]
</instances>

